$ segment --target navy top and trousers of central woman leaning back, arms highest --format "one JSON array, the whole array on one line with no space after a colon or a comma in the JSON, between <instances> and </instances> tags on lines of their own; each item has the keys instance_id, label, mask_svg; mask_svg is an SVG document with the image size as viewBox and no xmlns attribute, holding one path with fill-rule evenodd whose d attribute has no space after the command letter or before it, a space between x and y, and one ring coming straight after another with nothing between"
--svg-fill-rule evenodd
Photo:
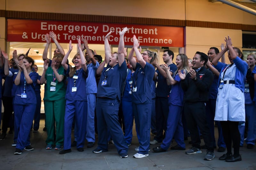
<instances>
[{"instance_id":1,"label":"navy top and trousers of central woman leaning back, arms highest","mask_svg":"<svg viewBox=\"0 0 256 170\"><path fill-rule=\"evenodd\" d=\"M98 84L96 114L98 128L98 146L102 151L108 151L108 130L113 138L117 152L127 153L128 146L124 133L118 122L118 110L121 100L121 86L127 75L126 63L121 66L107 66L103 69Z\"/></svg>"}]
</instances>

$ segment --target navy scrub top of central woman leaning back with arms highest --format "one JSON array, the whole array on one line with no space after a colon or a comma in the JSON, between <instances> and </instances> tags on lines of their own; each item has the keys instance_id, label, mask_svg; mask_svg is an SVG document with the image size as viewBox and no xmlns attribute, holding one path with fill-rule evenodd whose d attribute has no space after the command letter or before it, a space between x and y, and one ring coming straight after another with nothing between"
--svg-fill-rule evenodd
<instances>
[{"instance_id":1,"label":"navy scrub top of central woman leaning back with arms highest","mask_svg":"<svg viewBox=\"0 0 256 170\"><path fill-rule=\"evenodd\" d=\"M107 97L110 99L121 100L121 87L123 86L127 76L127 65L124 61L119 67L116 64L114 67L107 66L102 70L100 81L98 84L97 97ZM102 81L106 78L106 85L102 85ZM124 87L124 86L123 86Z\"/></svg>"}]
</instances>

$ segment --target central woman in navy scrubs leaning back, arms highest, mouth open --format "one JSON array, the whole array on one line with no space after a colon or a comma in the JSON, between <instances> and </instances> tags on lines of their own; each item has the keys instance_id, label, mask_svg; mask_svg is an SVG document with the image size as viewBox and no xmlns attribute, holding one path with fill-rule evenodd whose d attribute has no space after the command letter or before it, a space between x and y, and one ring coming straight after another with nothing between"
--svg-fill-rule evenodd
<instances>
[{"instance_id":1,"label":"central woman in navy scrubs leaning back, arms highest, mouth open","mask_svg":"<svg viewBox=\"0 0 256 170\"><path fill-rule=\"evenodd\" d=\"M99 141L97 148L92 151L94 153L108 151L109 130L121 158L128 157L128 145L125 142L124 133L118 122L121 86L124 84L127 75L127 66L124 61L124 33L127 30L128 28L125 27L122 31L119 31L118 53L114 53L112 56L108 43L108 36L111 34L111 31L105 36L105 55L108 66L103 68L104 65L100 65L98 68L98 70L102 70L96 102Z\"/></svg>"}]
</instances>

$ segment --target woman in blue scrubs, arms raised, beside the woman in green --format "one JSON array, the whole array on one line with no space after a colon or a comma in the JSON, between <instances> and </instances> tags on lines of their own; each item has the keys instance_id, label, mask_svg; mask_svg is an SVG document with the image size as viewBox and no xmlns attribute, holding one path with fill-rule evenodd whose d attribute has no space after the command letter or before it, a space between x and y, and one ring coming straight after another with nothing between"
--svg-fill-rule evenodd
<instances>
[{"instance_id":1,"label":"woman in blue scrubs, arms raised, beside the woman in green","mask_svg":"<svg viewBox=\"0 0 256 170\"><path fill-rule=\"evenodd\" d=\"M69 67L68 64L66 64L68 55L72 51L72 48L73 46L70 40L69 50L61 62L64 69L67 71L68 86L65 96L66 109L64 117L64 147L63 150L60 151L60 154L71 152L71 128L74 116L76 119L77 129L76 149L79 152L84 151L87 120L87 97L85 81L88 77L88 73L85 57L81 49L80 39L78 39L79 53L77 53L72 59L72 63L75 64L75 67Z\"/></svg>"}]
</instances>

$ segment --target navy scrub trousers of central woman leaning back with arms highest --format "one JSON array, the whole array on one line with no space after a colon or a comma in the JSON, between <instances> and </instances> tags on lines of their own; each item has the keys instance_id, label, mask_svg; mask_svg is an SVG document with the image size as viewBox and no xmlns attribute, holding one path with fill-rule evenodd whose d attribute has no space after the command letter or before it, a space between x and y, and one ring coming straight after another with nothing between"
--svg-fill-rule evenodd
<instances>
[{"instance_id":1,"label":"navy scrub trousers of central woman leaning back with arms highest","mask_svg":"<svg viewBox=\"0 0 256 170\"><path fill-rule=\"evenodd\" d=\"M119 154L127 153L128 145L124 133L118 122L119 101L110 98L97 98L96 114L98 129L98 146L103 151L108 151L108 130L115 143Z\"/></svg>"}]
</instances>

